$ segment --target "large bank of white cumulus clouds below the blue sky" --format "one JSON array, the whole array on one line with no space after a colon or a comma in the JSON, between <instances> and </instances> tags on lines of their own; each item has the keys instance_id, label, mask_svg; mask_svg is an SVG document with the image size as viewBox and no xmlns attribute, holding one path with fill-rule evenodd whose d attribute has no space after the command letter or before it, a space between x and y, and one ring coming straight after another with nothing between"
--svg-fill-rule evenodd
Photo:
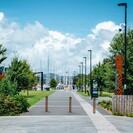
<instances>
[{"instance_id":1,"label":"large bank of white cumulus clouds below the blue sky","mask_svg":"<svg viewBox=\"0 0 133 133\"><path fill-rule=\"evenodd\" d=\"M4 14L0 13L0 22ZM0 42L8 49L9 65L14 56L27 59L33 70L47 71L47 59L50 59L50 71L57 73L69 70L71 74L78 70L83 57L89 58L87 50L93 51L93 64L102 61L108 55L108 47L119 26L107 21L97 24L91 34L84 38L75 37L69 33L52 31L40 22L21 26L9 20L0 23ZM87 60L89 61L89 59Z\"/></svg>"}]
</instances>

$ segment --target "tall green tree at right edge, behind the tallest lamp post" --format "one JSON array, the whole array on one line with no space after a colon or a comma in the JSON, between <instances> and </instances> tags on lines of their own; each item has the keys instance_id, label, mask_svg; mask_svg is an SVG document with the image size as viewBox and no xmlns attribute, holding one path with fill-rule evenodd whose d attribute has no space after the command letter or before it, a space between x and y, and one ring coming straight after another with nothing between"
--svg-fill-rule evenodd
<instances>
[{"instance_id":1,"label":"tall green tree at right edge, behind the tallest lamp post","mask_svg":"<svg viewBox=\"0 0 133 133\"><path fill-rule=\"evenodd\" d=\"M111 59L114 60L116 53L119 53L124 58L124 33L116 34L110 45ZM133 89L133 30L127 33L127 87ZM123 63L124 69L124 63ZM123 73L124 74L124 73Z\"/></svg>"}]
</instances>

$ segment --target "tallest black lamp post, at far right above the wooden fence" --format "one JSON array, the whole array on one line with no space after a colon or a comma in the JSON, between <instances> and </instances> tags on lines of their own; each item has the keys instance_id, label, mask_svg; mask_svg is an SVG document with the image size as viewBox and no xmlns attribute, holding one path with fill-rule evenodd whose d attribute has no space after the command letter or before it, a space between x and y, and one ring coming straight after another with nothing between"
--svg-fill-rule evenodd
<instances>
[{"instance_id":1,"label":"tallest black lamp post, at far right above the wooden fence","mask_svg":"<svg viewBox=\"0 0 133 133\"><path fill-rule=\"evenodd\" d=\"M126 64L126 58L127 58L127 3L119 3L118 6L124 6L125 7L125 34L124 34L124 89L126 89L126 79L127 79L127 64Z\"/></svg>"}]
</instances>

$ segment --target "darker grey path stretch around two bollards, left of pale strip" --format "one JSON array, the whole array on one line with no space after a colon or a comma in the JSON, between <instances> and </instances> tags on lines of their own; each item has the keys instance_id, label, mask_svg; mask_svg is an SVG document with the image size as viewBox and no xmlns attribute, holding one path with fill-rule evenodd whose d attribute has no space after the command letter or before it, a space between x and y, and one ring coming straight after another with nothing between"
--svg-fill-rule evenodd
<instances>
[{"instance_id":1,"label":"darker grey path stretch around two bollards, left of pale strip","mask_svg":"<svg viewBox=\"0 0 133 133\"><path fill-rule=\"evenodd\" d=\"M69 97L72 97L72 113L69 113ZM48 97L48 112L45 112L45 98L23 115L87 115L71 91L59 90Z\"/></svg>"}]
</instances>

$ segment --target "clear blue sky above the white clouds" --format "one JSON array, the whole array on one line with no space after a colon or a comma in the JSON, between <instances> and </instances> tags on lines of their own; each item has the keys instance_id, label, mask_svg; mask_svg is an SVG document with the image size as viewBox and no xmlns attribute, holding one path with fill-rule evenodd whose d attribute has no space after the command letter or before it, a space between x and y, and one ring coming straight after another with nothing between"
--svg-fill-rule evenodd
<instances>
[{"instance_id":1,"label":"clear blue sky above the white clouds","mask_svg":"<svg viewBox=\"0 0 133 133\"><path fill-rule=\"evenodd\" d=\"M39 21L49 29L83 37L97 23L122 23L120 2L128 3L128 26L132 27L132 0L0 0L0 10L20 25Z\"/></svg>"}]
</instances>

